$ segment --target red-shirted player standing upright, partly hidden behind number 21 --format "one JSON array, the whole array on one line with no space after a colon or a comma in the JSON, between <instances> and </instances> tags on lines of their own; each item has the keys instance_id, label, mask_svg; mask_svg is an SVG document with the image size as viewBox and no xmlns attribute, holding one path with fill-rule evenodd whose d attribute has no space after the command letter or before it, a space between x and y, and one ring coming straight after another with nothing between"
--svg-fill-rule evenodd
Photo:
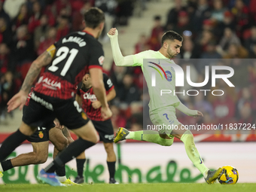
<instances>
[{"instance_id":1,"label":"red-shirted player standing upright, partly hidden behind number 21","mask_svg":"<svg viewBox=\"0 0 256 192\"><path fill-rule=\"evenodd\" d=\"M107 95L107 101L111 101L116 96L114 85L108 75L103 73L103 82ZM118 184L114 179L116 156L113 148L114 130L110 119L102 120L101 103L96 98L93 92L90 75L84 75L81 86L78 87L76 101L82 106L87 116L92 120L96 131L99 133L100 141L103 142L105 151L107 152L107 165L109 172L109 183ZM82 153L77 157L78 176L75 178L75 183L84 183L84 163L85 155Z\"/></svg>"}]
</instances>

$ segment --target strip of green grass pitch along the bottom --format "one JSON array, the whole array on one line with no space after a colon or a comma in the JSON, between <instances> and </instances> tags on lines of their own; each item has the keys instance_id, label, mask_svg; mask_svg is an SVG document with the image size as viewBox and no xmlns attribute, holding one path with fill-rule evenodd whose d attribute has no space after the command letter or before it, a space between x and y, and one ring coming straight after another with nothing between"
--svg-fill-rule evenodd
<instances>
[{"instance_id":1,"label":"strip of green grass pitch along the bottom","mask_svg":"<svg viewBox=\"0 0 256 192\"><path fill-rule=\"evenodd\" d=\"M0 191L8 192L227 192L227 191L255 191L256 183L250 184L83 184L82 186L52 187L47 184L0 184Z\"/></svg>"}]
</instances>

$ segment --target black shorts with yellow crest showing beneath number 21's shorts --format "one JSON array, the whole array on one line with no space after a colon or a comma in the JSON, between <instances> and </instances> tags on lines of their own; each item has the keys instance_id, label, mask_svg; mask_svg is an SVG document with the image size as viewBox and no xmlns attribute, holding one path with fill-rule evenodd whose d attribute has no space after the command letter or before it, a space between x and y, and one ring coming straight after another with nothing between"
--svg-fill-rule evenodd
<instances>
[{"instance_id":1,"label":"black shorts with yellow crest showing beneath number 21's shorts","mask_svg":"<svg viewBox=\"0 0 256 192\"><path fill-rule=\"evenodd\" d=\"M38 126L35 130L35 133L27 139L29 142L47 142L49 141L49 131L55 125L47 129L46 127Z\"/></svg>"}]
</instances>

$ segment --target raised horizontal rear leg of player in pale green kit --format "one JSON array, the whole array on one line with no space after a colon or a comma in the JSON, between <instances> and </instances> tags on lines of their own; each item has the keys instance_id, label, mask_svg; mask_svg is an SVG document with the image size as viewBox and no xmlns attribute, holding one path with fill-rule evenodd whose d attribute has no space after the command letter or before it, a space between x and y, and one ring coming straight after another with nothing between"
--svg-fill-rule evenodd
<instances>
[{"instance_id":1,"label":"raised horizontal rear leg of player in pale green kit","mask_svg":"<svg viewBox=\"0 0 256 192\"><path fill-rule=\"evenodd\" d=\"M163 138L156 131L128 131L120 127L114 136L114 142L117 143L124 139L134 139L137 141L153 142L162 146L171 146L174 138L168 136Z\"/></svg>"}]
</instances>

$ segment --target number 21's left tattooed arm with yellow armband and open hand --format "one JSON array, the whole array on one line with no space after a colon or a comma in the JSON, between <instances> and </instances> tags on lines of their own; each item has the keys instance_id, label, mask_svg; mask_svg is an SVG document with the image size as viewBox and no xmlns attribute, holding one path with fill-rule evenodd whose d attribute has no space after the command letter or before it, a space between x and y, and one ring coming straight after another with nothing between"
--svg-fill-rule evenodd
<instances>
[{"instance_id":1,"label":"number 21's left tattooed arm with yellow armband and open hand","mask_svg":"<svg viewBox=\"0 0 256 192\"><path fill-rule=\"evenodd\" d=\"M8 112L14 110L17 107L19 107L20 110L23 108L32 84L41 72L41 68L50 64L53 59L55 50L56 47L54 45L51 45L46 51L44 51L44 53L42 53L40 56L38 56L37 59L32 62L32 65L29 68L29 72L26 74L26 78L23 81L23 85L19 93L14 95L8 102Z\"/></svg>"}]
</instances>

